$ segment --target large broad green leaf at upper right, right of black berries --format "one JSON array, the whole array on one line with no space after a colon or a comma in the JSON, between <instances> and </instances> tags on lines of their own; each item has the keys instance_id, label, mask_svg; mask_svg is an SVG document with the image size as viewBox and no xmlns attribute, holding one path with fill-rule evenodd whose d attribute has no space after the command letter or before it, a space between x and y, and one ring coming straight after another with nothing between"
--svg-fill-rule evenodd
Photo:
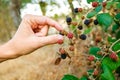
<instances>
[{"instance_id":1,"label":"large broad green leaf at upper right, right of black berries","mask_svg":"<svg viewBox=\"0 0 120 80\"><path fill-rule=\"evenodd\" d=\"M98 20L98 23L103 26L103 29L105 31L108 29L108 27L110 27L110 25L113 22L113 18L109 13L98 14L97 20Z\"/></svg>"}]
</instances>

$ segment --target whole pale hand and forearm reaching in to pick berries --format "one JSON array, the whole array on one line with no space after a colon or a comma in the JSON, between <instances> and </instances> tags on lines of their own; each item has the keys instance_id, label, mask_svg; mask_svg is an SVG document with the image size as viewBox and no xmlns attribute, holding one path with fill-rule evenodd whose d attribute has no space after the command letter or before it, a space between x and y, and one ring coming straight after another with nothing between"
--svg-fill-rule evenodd
<instances>
[{"instance_id":1,"label":"whole pale hand and forearm reaching in to pick berries","mask_svg":"<svg viewBox=\"0 0 120 80\"><path fill-rule=\"evenodd\" d=\"M13 38L0 46L0 61L17 58L45 45L55 44L59 39L63 40L63 36L58 34L47 36L49 26L58 31L63 30L56 21L48 17L25 15Z\"/></svg>"}]
</instances>

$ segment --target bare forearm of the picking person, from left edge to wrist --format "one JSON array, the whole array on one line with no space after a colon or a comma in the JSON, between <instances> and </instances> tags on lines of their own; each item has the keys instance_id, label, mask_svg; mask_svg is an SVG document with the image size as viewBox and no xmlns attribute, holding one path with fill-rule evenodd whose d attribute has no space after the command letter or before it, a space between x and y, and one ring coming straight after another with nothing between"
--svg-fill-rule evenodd
<instances>
[{"instance_id":1,"label":"bare forearm of the picking person, from left edge to wrist","mask_svg":"<svg viewBox=\"0 0 120 80\"><path fill-rule=\"evenodd\" d=\"M15 55L14 44L11 40L0 46L0 62L16 57L18 55Z\"/></svg>"}]
</instances>

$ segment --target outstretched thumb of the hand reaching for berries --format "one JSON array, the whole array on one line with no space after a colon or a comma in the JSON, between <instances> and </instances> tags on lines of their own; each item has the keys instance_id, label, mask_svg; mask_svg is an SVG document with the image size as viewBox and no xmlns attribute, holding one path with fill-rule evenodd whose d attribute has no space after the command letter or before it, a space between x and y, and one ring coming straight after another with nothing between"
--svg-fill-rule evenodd
<instances>
[{"instance_id":1,"label":"outstretched thumb of the hand reaching for berries","mask_svg":"<svg viewBox=\"0 0 120 80\"><path fill-rule=\"evenodd\" d=\"M62 35L50 35L50 36L38 37L38 44L40 47L49 45L49 44L55 44L57 43L59 39L63 40L63 36Z\"/></svg>"}]
</instances>

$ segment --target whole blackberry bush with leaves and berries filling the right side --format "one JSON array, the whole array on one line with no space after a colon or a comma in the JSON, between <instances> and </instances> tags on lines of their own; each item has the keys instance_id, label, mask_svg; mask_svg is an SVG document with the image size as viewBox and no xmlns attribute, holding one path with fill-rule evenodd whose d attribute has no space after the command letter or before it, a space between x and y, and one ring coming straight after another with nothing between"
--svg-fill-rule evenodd
<instances>
[{"instance_id":1,"label":"whole blackberry bush with leaves and berries filling the right side","mask_svg":"<svg viewBox=\"0 0 120 80\"><path fill-rule=\"evenodd\" d=\"M86 72L79 78L74 76L74 73L67 74L62 80L119 80L116 74L120 75L120 1L87 2L93 6L87 13L82 8L75 8L73 11L77 14L74 17L66 17L69 31L64 30L61 34L68 39L63 43L68 46L61 45L65 48L64 54L58 52L60 57L55 63L68 57L70 65L75 66L72 59L80 58L81 55L77 54L76 50L80 52L80 47L83 47L81 54L86 57ZM81 67L80 63L77 61L77 67Z\"/></svg>"}]
</instances>

